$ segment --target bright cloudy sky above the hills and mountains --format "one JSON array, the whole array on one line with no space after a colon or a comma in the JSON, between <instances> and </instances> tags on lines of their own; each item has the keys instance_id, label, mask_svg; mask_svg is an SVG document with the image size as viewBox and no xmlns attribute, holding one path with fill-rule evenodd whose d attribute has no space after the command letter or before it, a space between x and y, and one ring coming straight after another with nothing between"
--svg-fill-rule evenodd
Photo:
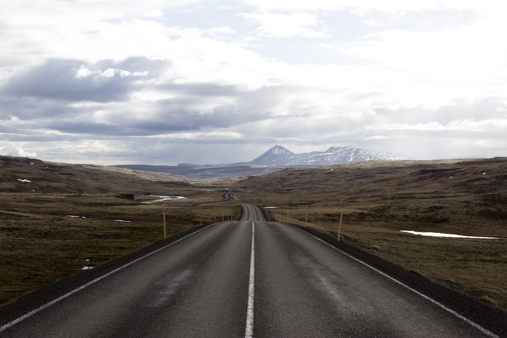
<instances>
[{"instance_id":1,"label":"bright cloudy sky above the hills and mountains","mask_svg":"<svg viewBox=\"0 0 507 338\"><path fill-rule=\"evenodd\" d=\"M3 2L0 154L507 156L505 13L487 0Z\"/></svg>"}]
</instances>

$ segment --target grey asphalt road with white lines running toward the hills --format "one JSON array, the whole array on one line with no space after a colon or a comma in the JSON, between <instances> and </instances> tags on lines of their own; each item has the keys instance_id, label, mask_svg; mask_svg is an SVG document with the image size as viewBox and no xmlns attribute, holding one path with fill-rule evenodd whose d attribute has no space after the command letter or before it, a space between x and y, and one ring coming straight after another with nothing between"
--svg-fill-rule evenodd
<instances>
[{"instance_id":1,"label":"grey asphalt road with white lines running toward the hills","mask_svg":"<svg viewBox=\"0 0 507 338\"><path fill-rule=\"evenodd\" d=\"M253 206L29 311L0 336L495 336Z\"/></svg>"}]
</instances>

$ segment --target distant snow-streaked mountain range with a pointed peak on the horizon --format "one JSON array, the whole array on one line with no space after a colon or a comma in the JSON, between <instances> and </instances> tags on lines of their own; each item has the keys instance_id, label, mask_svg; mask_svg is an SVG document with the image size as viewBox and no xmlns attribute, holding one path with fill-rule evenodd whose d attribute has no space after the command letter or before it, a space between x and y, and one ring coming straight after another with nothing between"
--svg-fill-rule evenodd
<instances>
[{"instance_id":1,"label":"distant snow-streaked mountain range with a pointed peak on the horizon","mask_svg":"<svg viewBox=\"0 0 507 338\"><path fill-rule=\"evenodd\" d=\"M294 154L280 145L275 145L249 164L328 166L347 162L396 160L410 160L410 158L353 146L331 147L325 152Z\"/></svg>"}]
</instances>

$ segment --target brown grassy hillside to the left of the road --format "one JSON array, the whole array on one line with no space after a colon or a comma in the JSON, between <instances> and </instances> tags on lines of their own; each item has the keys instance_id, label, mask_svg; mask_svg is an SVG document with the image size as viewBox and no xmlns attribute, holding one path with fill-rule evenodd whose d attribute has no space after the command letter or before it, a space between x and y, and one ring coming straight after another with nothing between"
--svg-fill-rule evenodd
<instances>
[{"instance_id":1,"label":"brown grassy hillside to the left of the road","mask_svg":"<svg viewBox=\"0 0 507 338\"><path fill-rule=\"evenodd\" d=\"M0 305L162 239L148 193L186 197L165 202L168 236L237 217L233 205L187 206L223 191L179 176L0 156Z\"/></svg>"}]
</instances>

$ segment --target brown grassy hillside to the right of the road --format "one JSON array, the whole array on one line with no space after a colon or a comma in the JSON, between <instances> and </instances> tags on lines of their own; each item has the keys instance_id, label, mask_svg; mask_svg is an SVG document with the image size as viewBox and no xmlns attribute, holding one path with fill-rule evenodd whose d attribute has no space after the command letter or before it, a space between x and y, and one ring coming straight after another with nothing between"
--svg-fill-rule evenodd
<instances>
[{"instance_id":1,"label":"brown grassy hillside to the right of the road","mask_svg":"<svg viewBox=\"0 0 507 338\"><path fill-rule=\"evenodd\" d=\"M507 158L361 162L237 182L245 203L507 309ZM288 215L288 216L287 216ZM500 239L423 237L401 230Z\"/></svg>"}]
</instances>

